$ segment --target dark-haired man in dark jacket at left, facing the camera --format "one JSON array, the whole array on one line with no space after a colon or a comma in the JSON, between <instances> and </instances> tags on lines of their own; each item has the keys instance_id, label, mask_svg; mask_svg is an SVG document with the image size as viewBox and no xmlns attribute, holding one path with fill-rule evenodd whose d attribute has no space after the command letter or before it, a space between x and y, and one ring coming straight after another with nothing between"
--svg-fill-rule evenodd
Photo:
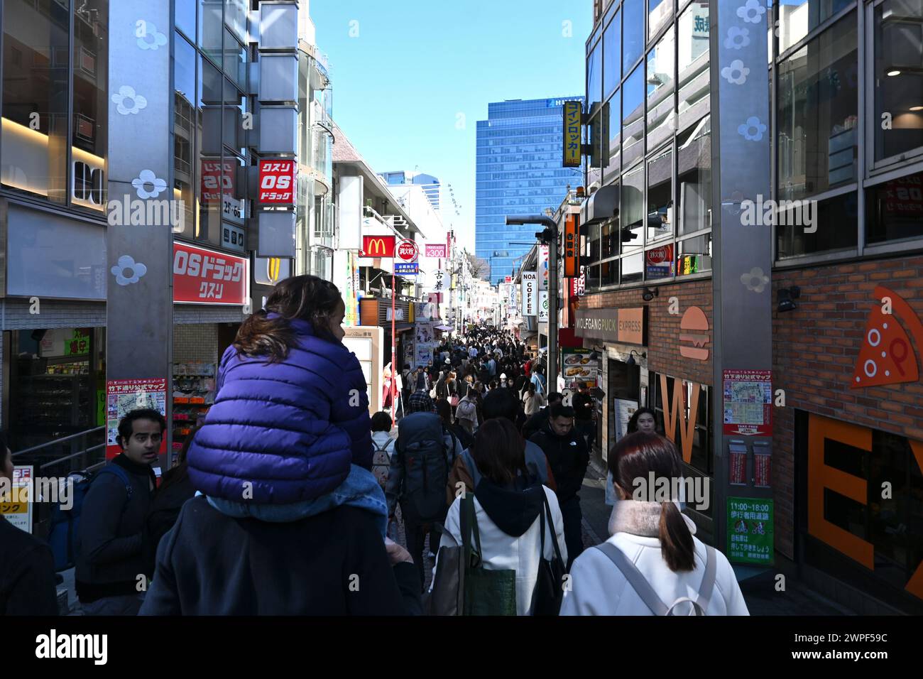
<instances>
[{"instance_id":1,"label":"dark-haired man in dark jacket at left, facing the camera","mask_svg":"<svg viewBox=\"0 0 923 679\"><path fill-rule=\"evenodd\" d=\"M83 500L76 580L85 615L138 614L146 571L142 534L156 487L150 466L166 427L156 410L122 418L116 438L122 453L98 472Z\"/></svg>"}]
</instances>

